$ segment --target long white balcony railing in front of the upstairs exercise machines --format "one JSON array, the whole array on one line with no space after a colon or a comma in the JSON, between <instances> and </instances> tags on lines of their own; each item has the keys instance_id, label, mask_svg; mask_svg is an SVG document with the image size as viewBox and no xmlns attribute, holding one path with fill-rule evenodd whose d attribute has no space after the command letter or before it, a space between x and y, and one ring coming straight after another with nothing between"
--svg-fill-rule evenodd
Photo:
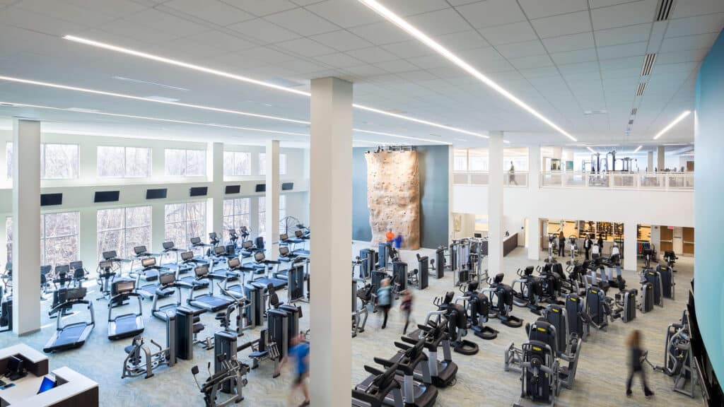
<instances>
[{"instance_id":1,"label":"long white balcony railing in front of the upstairs exercise machines","mask_svg":"<svg viewBox=\"0 0 724 407\"><path fill-rule=\"evenodd\" d=\"M693 172L542 172L542 188L694 190Z\"/></svg>"}]
</instances>

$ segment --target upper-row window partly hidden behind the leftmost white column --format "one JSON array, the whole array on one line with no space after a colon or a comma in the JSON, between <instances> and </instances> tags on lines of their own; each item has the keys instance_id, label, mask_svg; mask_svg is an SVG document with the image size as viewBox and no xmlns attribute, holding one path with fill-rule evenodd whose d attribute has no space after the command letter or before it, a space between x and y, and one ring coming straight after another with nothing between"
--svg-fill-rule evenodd
<instances>
[{"instance_id":1,"label":"upper-row window partly hidden behind the leftmost white column","mask_svg":"<svg viewBox=\"0 0 724 407\"><path fill-rule=\"evenodd\" d=\"M12 143L5 145L7 178L12 179ZM41 179L70 180L78 177L77 144L41 144Z\"/></svg>"}]
</instances>

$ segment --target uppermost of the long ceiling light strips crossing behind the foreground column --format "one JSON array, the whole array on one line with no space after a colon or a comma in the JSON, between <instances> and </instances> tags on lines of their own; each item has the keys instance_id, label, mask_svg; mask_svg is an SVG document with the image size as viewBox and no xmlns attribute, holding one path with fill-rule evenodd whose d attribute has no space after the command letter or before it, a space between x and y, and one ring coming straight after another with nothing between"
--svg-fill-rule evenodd
<instances>
[{"instance_id":1,"label":"uppermost of the long ceiling light strips crossing behind the foreground column","mask_svg":"<svg viewBox=\"0 0 724 407\"><path fill-rule=\"evenodd\" d=\"M95 46L95 47L97 47L97 48L107 49L107 50L109 50L109 51L115 51L115 52L119 52L119 53L121 53L121 54L138 56L138 57L143 58L143 59L151 59L152 61L163 62L164 64L171 64L171 65L175 65L175 66L177 66L177 67L184 67L184 68L187 68L187 69L190 69L190 70L195 70L195 71L198 71L198 72L205 72L205 73L208 73L208 74L211 74L211 75L216 75L216 76L221 76L221 77L227 77L227 78L229 78L229 79L238 80L238 81L240 81L240 82L253 83L254 85L265 86L266 88L276 89L277 91L285 91L285 92L289 92L289 93L295 93L295 94L298 94L298 95L311 97L311 93L306 92L306 91L300 91L300 90L298 90L298 89L287 88L287 87L285 87L285 86L280 86L280 85L276 85L276 84L274 84L274 83L265 82L264 80L256 80L256 79L253 79L253 78L251 78L251 77L245 77L245 76L242 76L242 75L236 75L236 74L233 74L233 73L231 73L231 72L224 72L224 71L222 71L222 70L216 70L216 69L214 69L214 68L202 67L201 65L191 64L191 63L189 63L189 62L183 62L183 61L179 61L179 60L177 60L177 59L170 59L170 58L166 58L166 57L164 57L164 56L159 56L159 55L154 55L154 54L148 54L147 52L136 51L136 50L134 50L134 49L128 49L128 48L125 48L125 47L122 47L122 46L115 46L115 45L112 45L112 44L109 44L109 43L102 43L102 42L100 42L100 41L93 41L93 40L90 40L90 39L88 39L88 38L81 38L81 37L77 37L77 36L75 36L75 35L65 35L63 38L66 39L66 40L68 40L68 41L73 41L73 42L76 42L76 43L83 43L83 44L85 44L85 45ZM430 121L428 121L428 120L418 119L418 118L416 118L416 117L405 116L404 114L397 114L397 113L392 113L392 112L386 112L386 111L381 110L381 109L376 109L376 108L374 108L374 107L364 106L364 105L361 105L361 104L353 104L352 106L355 107L355 109L366 110L367 112L373 112L373 113L376 113L376 114L384 114L385 116L396 117L397 119L408 120L408 121L410 121L410 122L420 123L421 125L429 125L429 126L432 126L432 127L438 127L438 128L441 128L441 129L450 130L450 131L454 131L454 132L457 132L457 133L463 133L463 134L467 134L467 135L473 135L473 136L480 137L480 138L488 138L488 136L487 136L487 135L484 135L484 134L475 133L475 132L472 132L472 131L469 131L469 130L460 129L460 128L458 128L458 127L441 125L441 124L439 124L439 123L430 122Z\"/></svg>"}]
</instances>

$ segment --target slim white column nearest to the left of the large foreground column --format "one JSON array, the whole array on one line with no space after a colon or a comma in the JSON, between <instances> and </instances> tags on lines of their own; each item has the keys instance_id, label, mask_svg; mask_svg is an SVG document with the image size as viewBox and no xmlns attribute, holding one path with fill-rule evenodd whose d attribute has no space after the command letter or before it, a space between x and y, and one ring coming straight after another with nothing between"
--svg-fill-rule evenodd
<instances>
[{"instance_id":1,"label":"slim white column nearest to the left of the large foreground column","mask_svg":"<svg viewBox=\"0 0 724 407\"><path fill-rule=\"evenodd\" d=\"M266 141L266 258L276 260L279 254L279 140ZM276 242L276 244L274 244Z\"/></svg>"}]
</instances>

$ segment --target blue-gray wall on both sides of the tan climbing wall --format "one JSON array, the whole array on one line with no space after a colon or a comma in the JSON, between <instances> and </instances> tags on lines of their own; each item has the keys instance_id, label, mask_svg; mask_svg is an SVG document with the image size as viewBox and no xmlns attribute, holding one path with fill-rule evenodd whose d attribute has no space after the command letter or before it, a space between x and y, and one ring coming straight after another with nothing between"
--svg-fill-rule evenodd
<instances>
[{"instance_id":1,"label":"blue-gray wall on both sides of the tan climbing wall","mask_svg":"<svg viewBox=\"0 0 724 407\"><path fill-rule=\"evenodd\" d=\"M367 209L367 162L365 151L352 152L352 238L369 241L372 230ZM447 245L450 177L450 147L418 146L420 172L420 245L437 248Z\"/></svg>"}]
</instances>

